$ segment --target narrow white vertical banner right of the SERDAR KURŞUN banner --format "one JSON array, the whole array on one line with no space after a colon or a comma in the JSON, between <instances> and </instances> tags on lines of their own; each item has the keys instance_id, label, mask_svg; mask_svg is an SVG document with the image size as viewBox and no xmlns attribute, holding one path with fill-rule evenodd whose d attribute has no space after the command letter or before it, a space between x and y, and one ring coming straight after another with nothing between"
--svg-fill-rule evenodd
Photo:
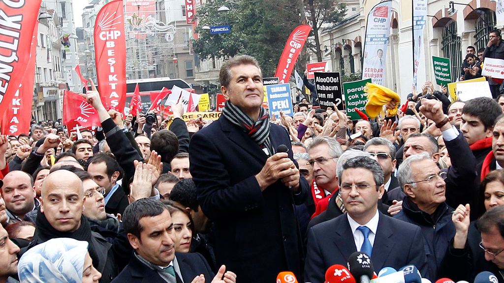
<instances>
[{"instance_id":1,"label":"narrow white vertical banner right of the SERDAR KUR\u015eUN banner","mask_svg":"<svg viewBox=\"0 0 504 283\"><path fill-rule=\"evenodd\" d=\"M418 68L420 64L425 64L422 57L423 50L423 28L427 22L427 0L413 1L413 86L418 82Z\"/></svg>"}]
</instances>

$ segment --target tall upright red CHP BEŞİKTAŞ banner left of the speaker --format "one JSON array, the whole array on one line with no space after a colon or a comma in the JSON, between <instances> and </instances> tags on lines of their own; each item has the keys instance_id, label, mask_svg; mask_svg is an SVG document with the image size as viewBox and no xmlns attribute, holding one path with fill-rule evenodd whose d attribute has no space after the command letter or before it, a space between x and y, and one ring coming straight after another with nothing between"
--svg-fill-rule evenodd
<instances>
[{"instance_id":1,"label":"tall upright red CHP BE\u015e\u0130KTA\u015e banner left of the speaker","mask_svg":"<svg viewBox=\"0 0 504 283\"><path fill-rule=\"evenodd\" d=\"M96 75L103 105L124 114L126 105L126 37L122 0L98 12L94 27Z\"/></svg>"}]
</instances>

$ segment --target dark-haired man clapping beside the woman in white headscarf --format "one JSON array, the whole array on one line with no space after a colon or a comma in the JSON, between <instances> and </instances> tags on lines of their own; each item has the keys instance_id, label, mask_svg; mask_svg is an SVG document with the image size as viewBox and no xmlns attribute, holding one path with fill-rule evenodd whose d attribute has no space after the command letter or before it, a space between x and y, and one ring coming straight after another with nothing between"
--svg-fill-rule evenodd
<instances>
[{"instance_id":1,"label":"dark-haired man clapping beside the woman in white headscarf","mask_svg":"<svg viewBox=\"0 0 504 283\"><path fill-rule=\"evenodd\" d=\"M236 274L221 266L214 277L198 253L175 253L173 223L168 208L149 198L132 202L122 218L124 230L135 249L130 263L113 282L235 283ZM222 279L224 277L224 279Z\"/></svg>"}]
</instances>

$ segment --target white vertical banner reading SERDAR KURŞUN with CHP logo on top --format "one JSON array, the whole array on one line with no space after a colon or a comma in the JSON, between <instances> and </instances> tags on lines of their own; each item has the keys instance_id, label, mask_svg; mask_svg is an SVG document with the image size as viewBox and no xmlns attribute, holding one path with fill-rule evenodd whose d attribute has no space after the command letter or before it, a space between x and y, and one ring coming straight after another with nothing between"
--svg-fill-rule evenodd
<instances>
[{"instance_id":1,"label":"white vertical banner reading SERDAR KUR\u015eUN with CHP logo on top","mask_svg":"<svg viewBox=\"0 0 504 283\"><path fill-rule=\"evenodd\" d=\"M384 84L387 66L391 4L392 1L379 3L367 15L362 80L371 79L374 84L379 85Z\"/></svg>"}]
</instances>

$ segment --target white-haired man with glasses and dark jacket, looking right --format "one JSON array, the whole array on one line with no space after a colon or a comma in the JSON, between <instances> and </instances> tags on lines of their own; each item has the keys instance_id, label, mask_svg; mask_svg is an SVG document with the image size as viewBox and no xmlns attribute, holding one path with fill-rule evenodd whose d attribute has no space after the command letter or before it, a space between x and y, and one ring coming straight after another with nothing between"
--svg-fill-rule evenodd
<instances>
[{"instance_id":1,"label":"white-haired man with glasses and dark jacket, looking right","mask_svg":"<svg viewBox=\"0 0 504 283\"><path fill-rule=\"evenodd\" d=\"M397 173L406 197L403 209L394 218L417 225L422 230L427 253L428 273L423 277L436 280L450 240L455 236L453 208L446 204L447 172L441 171L428 153L406 158Z\"/></svg>"}]
</instances>

